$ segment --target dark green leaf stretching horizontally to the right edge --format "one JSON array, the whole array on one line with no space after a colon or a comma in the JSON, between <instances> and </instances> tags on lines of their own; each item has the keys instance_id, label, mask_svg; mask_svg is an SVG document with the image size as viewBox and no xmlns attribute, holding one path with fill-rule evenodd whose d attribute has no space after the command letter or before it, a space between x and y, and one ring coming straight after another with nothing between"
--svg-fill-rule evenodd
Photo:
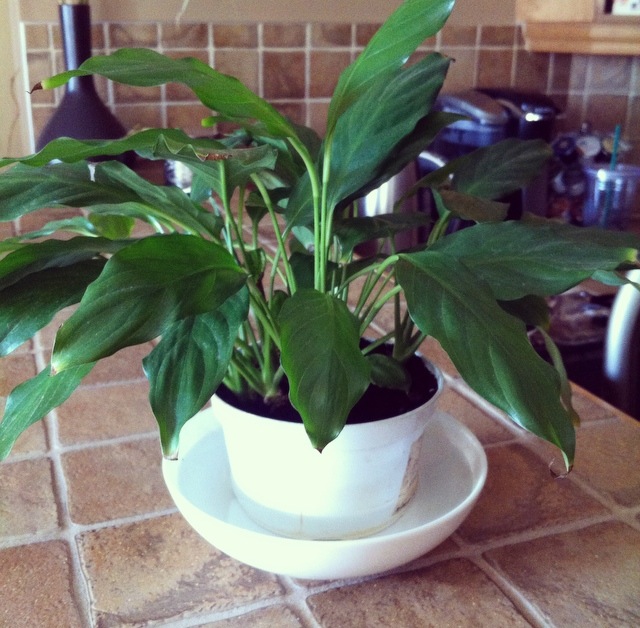
<instances>
[{"instance_id":1,"label":"dark green leaf stretching horizontally to the right edge","mask_svg":"<svg viewBox=\"0 0 640 628\"><path fill-rule=\"evenodd\" d=\"M634 263L639 247L633 234L551 221L507 221L463 229L431 250L464 262L491 285L496 299L512 300L559 294L597 270Z\"/></svg>"}]
</instances>

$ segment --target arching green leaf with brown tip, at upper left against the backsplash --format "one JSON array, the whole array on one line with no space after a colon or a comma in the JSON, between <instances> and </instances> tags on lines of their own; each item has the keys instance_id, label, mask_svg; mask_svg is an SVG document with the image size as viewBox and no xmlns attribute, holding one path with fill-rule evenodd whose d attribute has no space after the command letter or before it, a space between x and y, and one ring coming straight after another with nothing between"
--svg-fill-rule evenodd
<instances>
[{"instance_id":1,"label":"arching green leaf with brown tip, at upper left against the backsplash","mask_svg":"<svg viewBox=\"0 0 640 628\"><path fill-rule=\"evenodd\" d=\"M294 137L295 128L277 109L254 94L238 79L221 74L194 57L171 58L153 50L122 48L109 56L87 59L77 70L42 81L45 89L60 87L74 76L99 74L125 85L152 87L182 83L203 105L240 125L258 120L265 134Z\"/></svg>"}]
</instances>

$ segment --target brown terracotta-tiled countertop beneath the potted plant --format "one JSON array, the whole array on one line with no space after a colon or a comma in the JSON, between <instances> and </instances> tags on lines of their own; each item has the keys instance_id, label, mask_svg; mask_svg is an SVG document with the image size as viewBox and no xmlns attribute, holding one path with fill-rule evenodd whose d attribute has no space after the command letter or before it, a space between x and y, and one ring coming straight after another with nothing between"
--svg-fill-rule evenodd
<instances>
[{"instance_id":1,"label":"brown terracotta-tiled countertop beneath the potted plant","mask_svg":"<svg viewBox=\"0 0 640 628\"><path fill-rule=\"evenodd\" d=\"M60 321L0 363L0 409L34 375ZM377 577L301 581L203 541L165 488L140 360L98 365L0 464L0 627L637 626L640 423L576 388L574 471L480 402L438 346L442 411L489 459L478 503L451 538Z\"/></svg>"}]
</instances>

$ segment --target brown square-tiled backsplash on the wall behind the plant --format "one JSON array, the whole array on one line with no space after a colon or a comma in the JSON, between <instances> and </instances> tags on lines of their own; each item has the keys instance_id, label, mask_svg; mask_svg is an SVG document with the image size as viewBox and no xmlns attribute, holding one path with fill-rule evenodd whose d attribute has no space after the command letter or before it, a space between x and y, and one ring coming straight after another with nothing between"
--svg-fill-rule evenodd
<instances>
[{"instance_id":1,"label":"brown square-tiled backsplash on the wall behind the plant","mask_svg":"<svg viewBox=\"0 0 640 628\"><path fill-rule=\"evenodd\" d=\"M95 54L124 46L197 56L233 74L295 121L323 131L323 120L340 71L375 31L375 24L181 24L94 23ZM64 69L57 23L25 24L28 82ZM548 94L565 112L558 130L588 120L608 133L622 124L640 163L640 58L530 53L517 26L446 26L423 51L451 56L446 91L511 86ZM133 89L99 83L105 101L127 128L179 126L202 133L209 111L180 85ZM37 137L62 92L32 95Z\"/></svg>"}]
</instances>

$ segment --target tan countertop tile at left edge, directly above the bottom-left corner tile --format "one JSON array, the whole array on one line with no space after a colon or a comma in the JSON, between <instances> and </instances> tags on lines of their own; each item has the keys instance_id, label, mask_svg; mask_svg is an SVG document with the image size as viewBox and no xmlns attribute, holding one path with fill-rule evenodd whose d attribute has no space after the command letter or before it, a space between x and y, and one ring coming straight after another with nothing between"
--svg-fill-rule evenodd
<instances>
[{"instance_id":1,"label":"tan countertop tile at left edge, directly above the bottom-left corner tile","mask_svg":"<svg viewBox=\"0 0 640 628\"><path fill-rule=\"evenodd\" d=\"M0 537L52 532L58 527L47 458L0 464Z\"/></svg>"}]
</instances>

